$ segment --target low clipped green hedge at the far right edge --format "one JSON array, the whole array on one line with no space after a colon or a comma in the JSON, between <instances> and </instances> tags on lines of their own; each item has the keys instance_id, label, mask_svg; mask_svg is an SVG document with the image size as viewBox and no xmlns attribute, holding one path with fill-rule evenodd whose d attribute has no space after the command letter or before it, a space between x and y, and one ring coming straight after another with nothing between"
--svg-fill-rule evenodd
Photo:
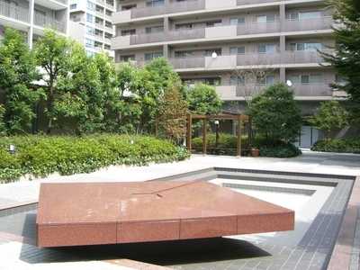
<instances>
[{"instance_id":1,"label":"low clipped green hedge at the far right edge","mask_svg":"<svg viewBox=\"0 0 360 270\"><path fill-rule=\"evenodd\" d=\"M314 143L312 151L360 154L359 139L320 139Z\"/></svg>"}]
</instances>

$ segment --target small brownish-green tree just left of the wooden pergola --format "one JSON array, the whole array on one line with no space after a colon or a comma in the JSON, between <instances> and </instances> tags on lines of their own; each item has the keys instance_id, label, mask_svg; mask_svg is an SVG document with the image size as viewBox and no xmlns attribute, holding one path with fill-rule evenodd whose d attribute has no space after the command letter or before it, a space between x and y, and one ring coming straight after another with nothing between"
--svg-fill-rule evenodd
<instances>
[{"instance_id":1,"label":"small brownish-green tree just left of the wooden pergola","mask_svg":"<svg viewBox=\"0 0 360 270\"><path fill-rule=\"evenodd\" d=\"M170 86L163 95L160 112L159 130L164 130L166 139L179 142L186 134L187 105L175 86Z\"/></svg>"}]
</instances>

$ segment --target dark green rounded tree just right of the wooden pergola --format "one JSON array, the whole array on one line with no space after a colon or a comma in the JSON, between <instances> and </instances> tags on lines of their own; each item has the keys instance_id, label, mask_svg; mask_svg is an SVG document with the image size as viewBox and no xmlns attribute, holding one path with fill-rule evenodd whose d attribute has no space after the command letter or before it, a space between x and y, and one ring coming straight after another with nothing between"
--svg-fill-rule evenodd
<instances>
[{"instance_id":1,"label":"dark green rounded tree just right of the wooden pergola","mask_svg":"<svg viewBox=\"0 0 360 270\"><path fill-rule=\"evenodd\" d=\"M249 115L257 134L275 146L280 141L296 141L302 129L302 109L293 99L293 91L284 83L270 85L250 101Z\"/></svg>"}]
</instances>

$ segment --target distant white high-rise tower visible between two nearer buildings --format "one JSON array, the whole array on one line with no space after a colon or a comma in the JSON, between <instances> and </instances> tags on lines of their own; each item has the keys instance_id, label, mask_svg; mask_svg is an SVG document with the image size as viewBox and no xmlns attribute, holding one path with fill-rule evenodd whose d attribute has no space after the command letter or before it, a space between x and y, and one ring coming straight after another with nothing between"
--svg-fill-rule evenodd
<instances>
[{"instance_id":1,"label":"distant white high-rise tower visible between two nearer buildings","mask_svg":"<svg viewBox=\"0 0 360 270\"><path fill-rule=\"evenodd\" d=\"M69 0L71 25L69 35L77 42L84 44L89 56L111 50L111 38L114 35L112 27L112 12L116 9L115 0ZM76 24L74 24L76 23Z\"/></svg>"}]
</instances>

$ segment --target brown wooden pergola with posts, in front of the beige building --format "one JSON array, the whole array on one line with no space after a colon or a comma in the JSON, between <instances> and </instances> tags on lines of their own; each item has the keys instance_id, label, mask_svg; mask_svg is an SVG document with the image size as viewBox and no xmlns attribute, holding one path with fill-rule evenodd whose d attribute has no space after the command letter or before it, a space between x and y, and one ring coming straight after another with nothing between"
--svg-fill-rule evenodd
<instances>
[{"instance_id":1,"label":"brown wooden pergola with posts, in front of the beige building","mask_svg":"<svg viewBox=\"0 0 360 270\"><path fill-rule=\"evenodd\" d=\"M251 118L247 115L200 115L200 114L188 114L187 116L187 136L186 147L191 152L192 150L192 125L193 119L202 119L202 154L206 155L207 148L207 121L209 120L235 120L238 121L237 134L238 134L238 147L237 156L241 156L241 121L247 120L247 145L251 144Z\"/></svg>"}]
</instances>

